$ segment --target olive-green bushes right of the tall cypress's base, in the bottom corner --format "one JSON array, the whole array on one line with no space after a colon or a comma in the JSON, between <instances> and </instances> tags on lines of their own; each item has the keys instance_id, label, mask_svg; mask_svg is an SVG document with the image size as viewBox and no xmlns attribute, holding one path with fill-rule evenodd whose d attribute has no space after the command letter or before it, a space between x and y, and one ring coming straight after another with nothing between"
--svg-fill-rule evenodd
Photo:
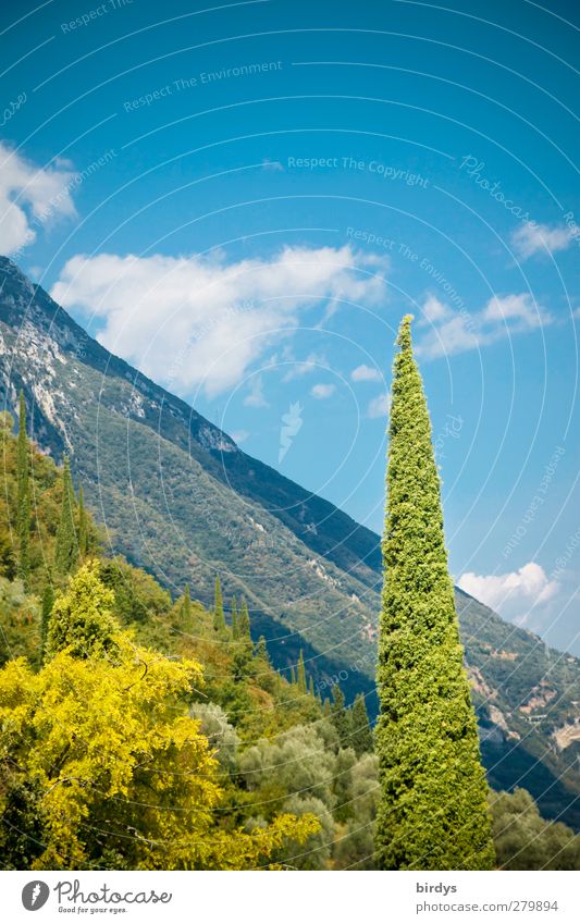
<instances>
[{"instance_id":1,"label":"olive-green bushes right of the tall cypress's base, in the bottom corner","mask_svg":"<svg viewBox=\"0 0 580 924\"><path fill-rule=\"evenodd\" d=\"M502 870L580 870L580 836L545 822L525 789L490 792L493 837Z\"/></svg>"}]
</instances>

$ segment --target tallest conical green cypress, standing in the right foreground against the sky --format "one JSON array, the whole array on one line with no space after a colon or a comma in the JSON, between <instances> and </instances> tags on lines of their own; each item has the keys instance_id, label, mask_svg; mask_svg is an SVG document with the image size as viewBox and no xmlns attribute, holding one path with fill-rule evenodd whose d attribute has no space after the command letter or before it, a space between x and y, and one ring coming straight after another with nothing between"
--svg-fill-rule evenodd
<instances>
[{"instance_id":1,"label":"tallest conical green cypress, standing in the right foreground against the sky","mask_svg":"<svg viewBox=\"0 0 580 924\"><path fill-rule=\"evenodd\" d=\"M397 338L388 430L375 862L382 870L489 870L485 775L411 320L404 318Z\"/></svg>"}]
</instances>

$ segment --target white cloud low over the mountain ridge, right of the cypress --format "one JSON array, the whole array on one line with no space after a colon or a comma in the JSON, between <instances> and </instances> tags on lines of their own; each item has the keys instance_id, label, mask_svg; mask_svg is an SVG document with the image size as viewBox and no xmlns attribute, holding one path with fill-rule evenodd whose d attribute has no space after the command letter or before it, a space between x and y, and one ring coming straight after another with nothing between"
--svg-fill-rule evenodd
<instances>
[{"instance_id":1,"label":"white cloud low over the mountain ridge, right of the cypress","mask_svg":"<svg viewBox=\"0 0 580 924\"><path fill-rule=\"evenodd\" d=\"M529 562L518 571L507 575L476 575L468 571L458 580L461 590L481 600L492 609L502 612L508 604L528 607L546 603L559 590L557 581L550 580L541 565Z\"/></svg>"}]
</instances>

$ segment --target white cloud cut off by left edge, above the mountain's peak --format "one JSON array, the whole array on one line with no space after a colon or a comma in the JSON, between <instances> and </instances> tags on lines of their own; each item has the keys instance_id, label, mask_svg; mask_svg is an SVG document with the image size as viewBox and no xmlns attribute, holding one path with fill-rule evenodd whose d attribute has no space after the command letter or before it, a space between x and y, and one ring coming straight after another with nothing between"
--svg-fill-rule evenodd
<instances>
[{"instance_id":1,"label":"white cloud cut off by left edge, above the mountain's peak","mask_svg":"<svg viewBox=\"0 0 580 924\"><path fill-rule=\"evenodd\" d=\"M16 254L42 224L75 214L71 189L77 174L70 167L57 161L38 168L0 141L0 254Z\"/></svg>"}]
</instances>

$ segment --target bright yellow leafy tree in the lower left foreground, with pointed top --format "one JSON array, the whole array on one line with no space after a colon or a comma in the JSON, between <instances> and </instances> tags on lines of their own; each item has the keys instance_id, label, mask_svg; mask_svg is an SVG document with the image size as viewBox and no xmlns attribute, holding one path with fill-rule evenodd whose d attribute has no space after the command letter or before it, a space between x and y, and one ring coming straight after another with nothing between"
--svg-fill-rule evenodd
<instances>
[{"instance_id":1,"label":"bright yellow leafy tree in the lower left foreground, with pointed top","mask_svg":"<svg viewBox=\"0 0 580 924\"><path fill-rule=\"evenodd\" d=\"M0 670L0 810L28 831L28 865L245 870L268 865L288 839L303 843L313 816L250 831L217 824L218 764L186 714L201 667L119 630L104 646L97 632L91 650L81 613L94 625L95 601L112 605L103 590L98 566L82 567L57 615L66 648L37 674L24 658ZM104 621L114 625L110 612Z\"/></svg>"}]
</instances>

